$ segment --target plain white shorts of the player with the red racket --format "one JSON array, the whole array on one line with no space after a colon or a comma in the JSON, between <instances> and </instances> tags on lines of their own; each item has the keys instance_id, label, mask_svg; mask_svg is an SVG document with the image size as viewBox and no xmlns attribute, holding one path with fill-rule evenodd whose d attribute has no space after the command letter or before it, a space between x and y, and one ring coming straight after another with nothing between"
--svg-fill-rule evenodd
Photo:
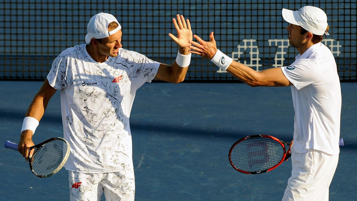
<instances>
[{"instance_id":1,"label":"plain white shorts of the player with the red racket","mask_svg":"<svg viewBox=\"0 0 357 201\"><path fill-rule=\"evenodd\" d=\"M328 201L328 189L335 174L338 154L310 150L291 151L292 171L282 201Z\"/></svg>"}]
</instances>

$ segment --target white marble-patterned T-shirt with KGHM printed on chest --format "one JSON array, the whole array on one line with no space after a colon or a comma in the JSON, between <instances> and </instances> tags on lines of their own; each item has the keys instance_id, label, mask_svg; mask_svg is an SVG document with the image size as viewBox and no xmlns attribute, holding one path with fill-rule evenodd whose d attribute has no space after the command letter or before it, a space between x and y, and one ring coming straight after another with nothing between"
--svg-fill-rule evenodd
<instances>
[{"instance_id":1,"label":"white marble-patterned T-shirt with KGHM printed on chest","mask_svg":"<svg viewBox=\"0 0 357 201\"><path fill-rule=\"evenodd\" d=\"M129 117L136 90L151 82L159 62L120 48L94 61L86 44L61 52L47 79L61 90L64 138L71 145L66 170L82 173L132 169Z\"/></svg>"}]
</instances>

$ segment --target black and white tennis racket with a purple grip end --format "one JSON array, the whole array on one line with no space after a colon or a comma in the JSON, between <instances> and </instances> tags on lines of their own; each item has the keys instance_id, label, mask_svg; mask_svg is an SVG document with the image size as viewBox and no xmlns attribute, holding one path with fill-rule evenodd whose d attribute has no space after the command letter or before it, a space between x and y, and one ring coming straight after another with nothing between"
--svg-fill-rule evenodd
<instances>
[{"instance_id":1,"label":"black and white tennis racket with a purple grip end","mask_svg":"<svg viewBox=\"0 0 357 201\"><path fill-rule=\"evenodd\" d=\"M17 151L18 144L6 141L4 146ZM34 153L30 157L32 149ZM70 146L61 137L54 137L34 145L30 147L28 156L31 172L40 178L52 176L66 163L69 154Z\"/></svg>"}]
</instances>

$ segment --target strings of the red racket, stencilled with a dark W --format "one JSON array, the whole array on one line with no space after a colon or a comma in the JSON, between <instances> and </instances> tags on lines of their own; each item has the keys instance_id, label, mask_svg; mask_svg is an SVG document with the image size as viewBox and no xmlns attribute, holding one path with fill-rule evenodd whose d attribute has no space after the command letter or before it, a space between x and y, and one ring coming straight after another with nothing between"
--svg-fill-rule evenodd
<instances>
[{"instance_id":1,"label":"strings of the red racket, stencilled with a dark W","mask_svg":"<svg viewBox=\"0 0 357 201\"><path fill-rule=\"evenodd\" d=\"M255 137L233 147L231 160L237 169L255 172L275 166L282 160L283 155L284 149L276 140Z\"/></svg>"}]
</instances>

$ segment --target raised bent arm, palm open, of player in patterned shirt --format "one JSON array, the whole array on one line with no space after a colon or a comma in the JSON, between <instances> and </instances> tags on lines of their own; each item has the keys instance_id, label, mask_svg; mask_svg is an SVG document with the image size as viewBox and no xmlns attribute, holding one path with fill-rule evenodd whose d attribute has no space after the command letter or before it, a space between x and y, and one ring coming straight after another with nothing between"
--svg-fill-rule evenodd
<instances>
[{"instance_id":1,"label":"raised bent arm, palm open, of player in patterned shirt","mask_svg":"<svg viewBox=\"0 0 357 201\"><path fill-rule=\"evenodd\" d=\"M175 29L177 31L177 37L173 34L169 34L172 40L179 46L176 61L170 66L166 64L160 64L159 70L155 76L155 79L164 80L167 82L178 83L185 79L187 67L190 64L191 53L188 41L192 40L192 30L190 21L181 15L176 15L176 19L172 19Z\"/></svg>"}]
</instances>

